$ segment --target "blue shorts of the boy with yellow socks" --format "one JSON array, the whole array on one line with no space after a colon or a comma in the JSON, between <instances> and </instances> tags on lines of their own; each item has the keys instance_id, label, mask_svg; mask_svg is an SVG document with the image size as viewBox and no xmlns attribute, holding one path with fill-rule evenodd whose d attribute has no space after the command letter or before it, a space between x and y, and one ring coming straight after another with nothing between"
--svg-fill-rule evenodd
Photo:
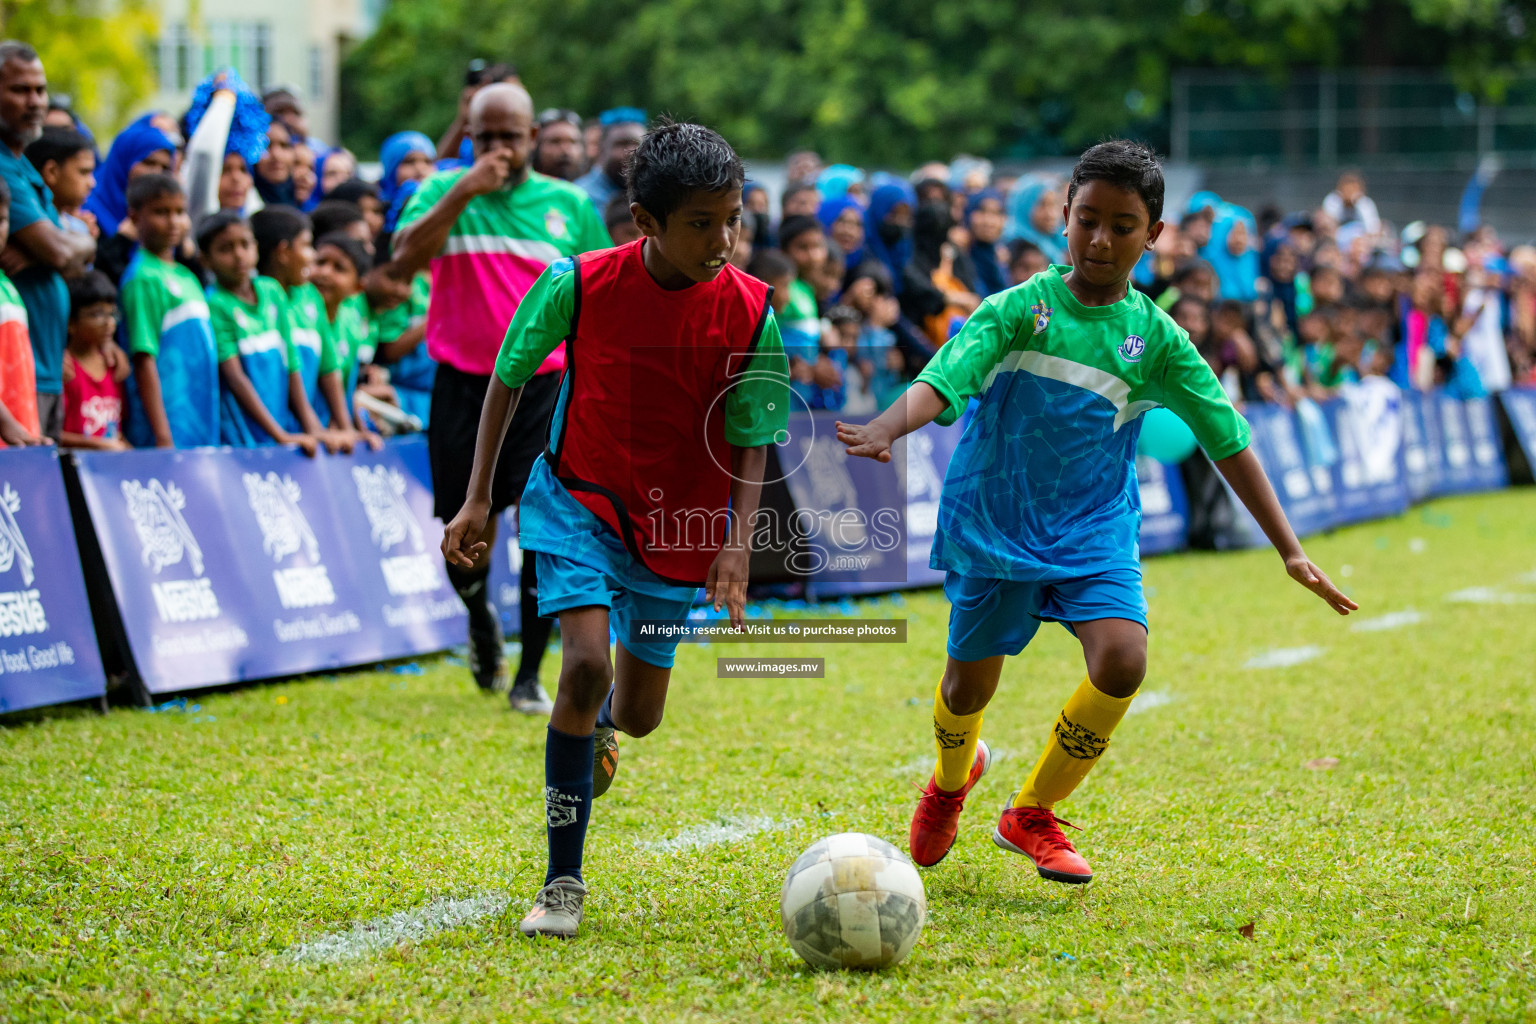
<instances>
[{"instance_id":1,"label":"blue shorts of the boy with yellow socks","mask_svg":"<svg viewBox=\"0 0 1536 1024\"><path fill-rule=\"evenodd\" d=\"M1129 567L1052 582L948 573L945 597L949 599L948 649L957 662L1018 654L1035 639L1041 622L1060 622L1069 633L1074 622L1094 619L1130 619L1143 629L1147 625L1141 570Z\"/></svg>"}]
</instances>

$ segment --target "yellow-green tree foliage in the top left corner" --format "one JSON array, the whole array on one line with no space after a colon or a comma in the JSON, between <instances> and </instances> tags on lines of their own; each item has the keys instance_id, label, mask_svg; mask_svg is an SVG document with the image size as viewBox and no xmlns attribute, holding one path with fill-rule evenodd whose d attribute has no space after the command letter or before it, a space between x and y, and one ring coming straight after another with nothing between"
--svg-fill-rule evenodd
<instances>
[{"instance_id":1,"label":"yellow-green tree foliage in the top left corner","mask_svg":"<svg viewBox=\"0 0 1536 1024\"><path fill-rule=\"evenodd\" d=\"M6 0L0 35L31 43L48 88L109 138L154 92L155 15L143 0Z\"/></svg>"}]
</instances>

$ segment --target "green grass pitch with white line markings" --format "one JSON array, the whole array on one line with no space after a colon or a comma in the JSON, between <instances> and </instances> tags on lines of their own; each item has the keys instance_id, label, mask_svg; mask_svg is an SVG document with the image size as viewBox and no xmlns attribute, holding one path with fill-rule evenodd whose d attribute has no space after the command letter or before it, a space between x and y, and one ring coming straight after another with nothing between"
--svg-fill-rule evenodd
<instances>
[{"instance_id":1,"label":"green grass pitch with white line markings","mask_svg":"<svg viewBox=\"0 0 1536 1024\"><path fill-rule=\"evenodd\" d=\"M989 841L1083 674L1046 626L988 711L1005 758L925 874L923 938L880 975L806 969L779 886L829 832L905 846L938 593L860 609L906 617L905 646L684 646L596 804L568 944L516 933L544 725L450 659L12 720L0 1019L1536 1019L1533 525L1525 490L1312 539L1364 631L1270 551L1150 560L1140 708L1060 809L1086 887ZM825 654L828 679L716 680L722 652Z\"/></svg>"}]
</instances>

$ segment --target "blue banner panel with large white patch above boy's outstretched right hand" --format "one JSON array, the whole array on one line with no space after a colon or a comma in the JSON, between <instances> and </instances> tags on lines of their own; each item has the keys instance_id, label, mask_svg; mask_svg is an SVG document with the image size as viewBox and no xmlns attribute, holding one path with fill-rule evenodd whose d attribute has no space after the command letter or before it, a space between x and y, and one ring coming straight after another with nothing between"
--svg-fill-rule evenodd
<instances>
[{"instance_id":1,"label":"blue banner panel with large white patch above boy's outstretched right hand","mask_svg":"<svg viewBox=\"0 0 1536 1024\"><path fill-rule=\"evenodd\" d=\"M1333 493L1338 522L1396 516L1409 507L1402 459L1402 393L1385 378L1342 388L1322 407L1338 445Z\"/></svg>"}]
</instances>

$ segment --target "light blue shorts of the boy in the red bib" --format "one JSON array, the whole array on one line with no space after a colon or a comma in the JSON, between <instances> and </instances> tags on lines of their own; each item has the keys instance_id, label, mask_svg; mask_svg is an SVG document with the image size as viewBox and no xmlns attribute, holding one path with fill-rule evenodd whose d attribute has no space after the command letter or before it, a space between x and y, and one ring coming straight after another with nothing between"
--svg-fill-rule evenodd
<instances>
[{"instance_id":1,"label":"light blue shorts of the boy in the red bib","mask_svg":"<svg viewBox=\"0 0 1536 1024\"><path fill-rule=\"evenodd\" d=\"M668 583L628 553L619 534L554 479L544 456L533 464L518 511L518 542L535 553L539 614L602 606L619 643L647 665L671 668L676 639L631 636L633 623L688 620L697 586Z\"/></svg>"}]
</instances>

